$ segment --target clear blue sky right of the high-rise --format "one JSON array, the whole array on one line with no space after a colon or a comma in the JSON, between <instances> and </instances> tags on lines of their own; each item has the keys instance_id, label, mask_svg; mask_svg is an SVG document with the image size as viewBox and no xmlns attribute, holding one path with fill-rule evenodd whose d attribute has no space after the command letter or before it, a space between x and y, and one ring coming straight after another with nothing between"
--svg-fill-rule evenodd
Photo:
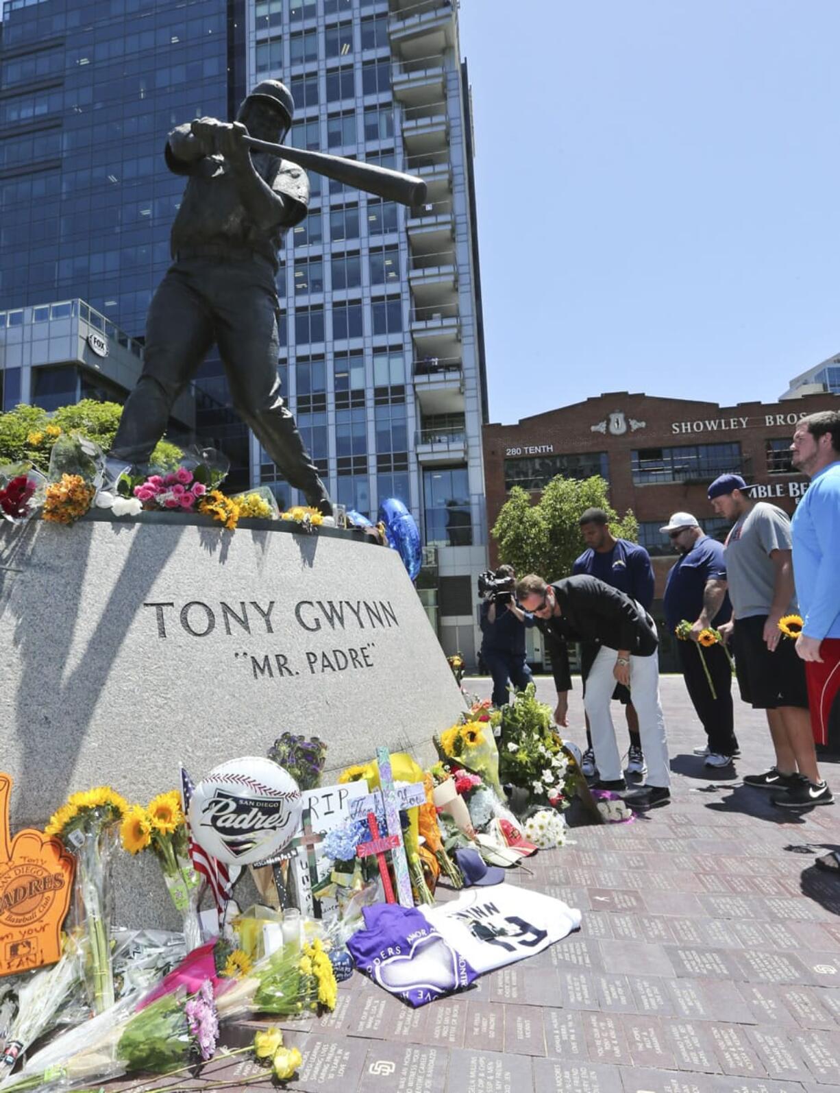
<instances>
[{"instance_id":1,"label":"clear blue sky right of the high-rise","mask_svg":"<svg viewBox=\"0 0 840 1093\"><path fill-rule=\"evenodd\" d=\"M840 350L838 0L461 0L490 420Z\"/></svg>"}]
</instances>

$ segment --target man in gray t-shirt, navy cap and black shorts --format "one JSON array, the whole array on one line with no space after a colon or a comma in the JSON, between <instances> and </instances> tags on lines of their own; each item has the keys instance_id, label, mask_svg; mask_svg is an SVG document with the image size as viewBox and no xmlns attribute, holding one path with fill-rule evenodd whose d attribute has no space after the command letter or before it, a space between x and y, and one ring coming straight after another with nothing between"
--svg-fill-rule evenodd
<instances>
[{"instance_id":1,"label":"man in gray t-shirt, navy cap and black shorts","mask_svg":"<svg viewBox=\"0 0 840 1093\"><path fill-rule=\"evenodd\" d=\"M796 611L791 521L781 508L753 501L747 490L740 474L721 474L709 486L715 515L735 521L724 553L732 622L720 631L732 640L741 697L766 710L776 751L776 765L747 775L744 785L783 790L773 804L794 808L803 778L815 786L825 783L817 769L805 672L794 643L779 630L779 620Z\"/></svg>"}]
</instances>

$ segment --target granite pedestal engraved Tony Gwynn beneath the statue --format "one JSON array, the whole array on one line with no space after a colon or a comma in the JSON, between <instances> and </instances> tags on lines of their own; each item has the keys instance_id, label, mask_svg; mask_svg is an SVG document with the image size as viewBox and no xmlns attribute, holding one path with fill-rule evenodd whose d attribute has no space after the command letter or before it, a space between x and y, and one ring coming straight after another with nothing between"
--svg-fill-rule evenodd
<instances>
[{"instance_id":1,"label":"granite pedestal engraved Tony Gwynn beneath the statue","mask_svg":"<svg viewBox=\"0 0 840 1093\"><path fill-rule=\"evenodd\" d=\"M324 784L379 744L427 762L464 708L394 551L257 520L4 526L0 666L13 831L102 783L145 802L181 761L198 779L284 730L328 742ZM155 870L122 870L120 921L161 922L129 909Z\"/></svg>"}]
</instances>

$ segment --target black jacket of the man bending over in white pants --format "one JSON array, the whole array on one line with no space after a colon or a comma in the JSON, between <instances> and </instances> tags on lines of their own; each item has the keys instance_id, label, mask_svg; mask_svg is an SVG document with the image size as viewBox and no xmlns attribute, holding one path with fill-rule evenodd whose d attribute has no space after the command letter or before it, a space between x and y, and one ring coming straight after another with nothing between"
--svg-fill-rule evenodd
<instances>
[{"instance_id":1,"label":"black jacket of the man bending over in white pants","mask_svg":"<svg viewBox=\"0 0 840 1093\"><path fill-rule=\"evenodd\" d=\"M659 639L647 613L617 588L588 574L556 580L552 588L561 614L534 620L545 635L558 692L571 690L567 642L596 642L629 649L634 657L656 651Z\"/></svg>"}]
</instances>

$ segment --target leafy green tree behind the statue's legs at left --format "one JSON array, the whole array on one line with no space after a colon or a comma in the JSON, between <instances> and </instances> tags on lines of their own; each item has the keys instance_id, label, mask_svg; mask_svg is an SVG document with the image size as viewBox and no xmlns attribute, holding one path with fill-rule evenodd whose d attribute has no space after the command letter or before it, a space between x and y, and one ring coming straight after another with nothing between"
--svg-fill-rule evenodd
<instances>
[{"instance_id":1,"label":"leafy green tree behind the statue's legs at left","mask_svg":"<svg viewBox=\"0 0 840 1093\"><path fill-rule=\"evenodd\" d=\"M40 407L22 402L13 410L0 413L0 466L25 460L46 473L52 445L61 433L81 433L107 451L121 414L119 402L97 402L95 399L82 399L72 406L59 407L51 414ZM177 465L182 454L174 444L161 440L152 453L151 462L168 469Z\"/></svg>"}]
</instances>

